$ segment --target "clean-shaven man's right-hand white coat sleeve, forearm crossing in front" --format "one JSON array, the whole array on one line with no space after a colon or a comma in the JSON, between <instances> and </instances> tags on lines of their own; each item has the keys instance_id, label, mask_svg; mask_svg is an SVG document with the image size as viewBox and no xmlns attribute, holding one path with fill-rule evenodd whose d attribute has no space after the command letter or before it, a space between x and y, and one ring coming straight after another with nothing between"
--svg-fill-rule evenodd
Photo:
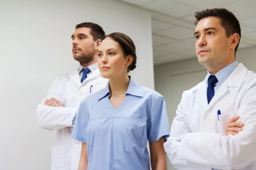
<instances>
[{"instance_id":1,"label":"clean-shaven man's right-hand white coat sleeve, forearm crossing in front","mask_svg":"<svg viewBox=\"0 0 256 170\"><path fill-rule=\"evenodd\" d=\"M256 161L256 85L240 97L237 115L243 130L235 136L187 133L177 148L178 159L216 169L243 169Z\"/></svg>"}]
</instances>

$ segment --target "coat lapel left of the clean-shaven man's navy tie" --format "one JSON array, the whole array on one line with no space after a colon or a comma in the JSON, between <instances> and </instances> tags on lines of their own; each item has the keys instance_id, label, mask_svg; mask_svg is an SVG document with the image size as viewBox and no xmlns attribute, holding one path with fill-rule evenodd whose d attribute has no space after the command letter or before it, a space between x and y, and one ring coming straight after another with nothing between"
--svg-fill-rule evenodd
<instances>
[{"instance_id":1,"label":"coat lapel left of the clean-shaven man's navy tie","mask_svg":"<svg viewBox=\"0 0 256 170\"><path fill-rule=\"evenodd\" d=\"M207 82L206 79L201 82L199 85L195 87L195 89L192 89L194 91L195 99L199 102L199 104L202 106L204 111L207 110L208 103L207 103Z\"/></svg>"}]
</instances>

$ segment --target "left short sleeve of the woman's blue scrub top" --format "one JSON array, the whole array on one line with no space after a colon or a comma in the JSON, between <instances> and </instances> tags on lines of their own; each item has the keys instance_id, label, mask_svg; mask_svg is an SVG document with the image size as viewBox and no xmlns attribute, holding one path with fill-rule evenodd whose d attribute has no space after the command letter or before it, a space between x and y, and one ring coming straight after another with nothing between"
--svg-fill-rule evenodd
<instances>
[{"instance_id":1,"label":"left short sleeve of the woman's blue scrub top","mask_svg":"<svg viewBox=\"0 0 256 170\"><path fill-rule=\"evenodd\" d=\"M87 143L86 131L89 122L89 113L84 107L84 101L81 102L78 111L76 112L76 120L72 130L72 139Z\"/></svg>"}]
</instances>

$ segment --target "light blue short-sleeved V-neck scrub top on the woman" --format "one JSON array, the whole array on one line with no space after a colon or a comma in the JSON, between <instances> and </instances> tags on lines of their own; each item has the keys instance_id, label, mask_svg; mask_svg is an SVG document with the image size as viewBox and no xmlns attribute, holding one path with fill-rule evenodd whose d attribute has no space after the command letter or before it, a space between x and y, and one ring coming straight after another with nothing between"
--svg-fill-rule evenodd
<instances>
[{"instance_id":1,"label":"light blue short-sleeved V-neck scrub top on the woman","mask_svg":"<svg viewBox=\"0 0 256 170\"><path fill-rule=\"evenodd\" d=\"M130 77L126 99L114 108L105 89L85 98L72 138L87 143L87 170L150 170L147 142L169 137L162 95Z\"/></svg>"}]
</instances>

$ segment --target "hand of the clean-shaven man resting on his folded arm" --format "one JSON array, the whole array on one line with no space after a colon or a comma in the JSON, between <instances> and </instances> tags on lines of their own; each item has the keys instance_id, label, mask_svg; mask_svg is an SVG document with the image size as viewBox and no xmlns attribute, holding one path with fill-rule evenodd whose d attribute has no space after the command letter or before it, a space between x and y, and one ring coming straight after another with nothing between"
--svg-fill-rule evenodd
<instances>
[{"instance_id":1,"label":"hand of the clean-shaven man resting on his folded arm","mask_svg":"<svg viewBox=\"0 0 256 170\"><path fill-rule=\"evenodd\" d=\"M239 116L235 116L232 119L230 119L229 122L227 122L227 127L225 129L226 135L236 135L238 132L243 130L242 127L244 126L244 124L241 122L236 122L238 119Z\"/></svg>"}]
</instances>

